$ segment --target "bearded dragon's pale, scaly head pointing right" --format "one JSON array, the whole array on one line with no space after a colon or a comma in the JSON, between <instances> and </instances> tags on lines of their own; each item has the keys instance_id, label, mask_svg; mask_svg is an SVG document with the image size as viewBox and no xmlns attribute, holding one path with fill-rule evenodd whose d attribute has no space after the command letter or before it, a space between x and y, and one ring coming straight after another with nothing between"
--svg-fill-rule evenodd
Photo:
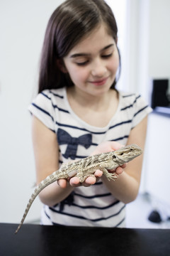
<instances>
[{"instance_id":1,"label":"bearded dragon's pale, scaly head pointing right","mask_svg":"<svg viewBox=\"0 0 170 256\"><path fill-rule=\"evenodd\" d=\"M123 162L128 162L136 156L140 156L140 154L142 154L142 149L136 144L123 146L121 149L114 151L115 157Z\"/></svg>"}]
</instances>

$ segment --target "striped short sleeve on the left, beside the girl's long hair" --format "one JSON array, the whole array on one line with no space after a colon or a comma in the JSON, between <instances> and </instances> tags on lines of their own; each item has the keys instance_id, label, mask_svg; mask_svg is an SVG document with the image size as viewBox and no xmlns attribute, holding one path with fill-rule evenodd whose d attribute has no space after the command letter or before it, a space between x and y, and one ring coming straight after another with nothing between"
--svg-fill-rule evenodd
<instances>
[{"instance_id":1,"label":"striped short sleeve on the left, beside the girl's long hair","mask_svg":"<svg viewBox=\"0 0 170 256\"><path fill-rule=\"evenodd\" d=\"M28 110L52 132L55 132L55 105L52 103L52 95L49 90L40 92L29 105Z\"/></svg>"}]
</instances>

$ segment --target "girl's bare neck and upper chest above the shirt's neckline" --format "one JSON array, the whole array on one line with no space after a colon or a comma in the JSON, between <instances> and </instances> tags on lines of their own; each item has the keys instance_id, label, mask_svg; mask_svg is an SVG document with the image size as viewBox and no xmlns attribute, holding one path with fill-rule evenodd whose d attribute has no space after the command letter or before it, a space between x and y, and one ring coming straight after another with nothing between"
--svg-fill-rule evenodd
<instances>
[{"instance_id":1,"label":"girl's bare neck and upper chest above the shirt's neckline","mask_svg":"<svg viewBox=\"0 0 170 256\"><path fill-rule=\"evenodd\" d=\"M67 90L67 99L77 116L94 127L106 127L118 109L118 92L109 90L103 95L87 95L85 92Z\"/></svg>"}]
</instances>

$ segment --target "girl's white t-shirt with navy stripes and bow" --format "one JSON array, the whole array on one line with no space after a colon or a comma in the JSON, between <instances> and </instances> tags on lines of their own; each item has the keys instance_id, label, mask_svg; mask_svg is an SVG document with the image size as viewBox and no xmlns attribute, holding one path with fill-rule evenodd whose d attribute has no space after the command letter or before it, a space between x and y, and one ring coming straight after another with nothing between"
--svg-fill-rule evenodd
<instances>
[{"instance_id":1,"label":"girl's white t-shirt with navy stripes and bow","mask_svg":"<svg viewBox=\"0 0 170 256\"><path fill-rule=\"evenodd\" d=\"M152 111L140 95L119 92L118 109L106 127L87 124L74 113L66 88L44 90L35 97L29 110L55 132L60 165L89 156L98 144L115 141L127 144L130 131ZM43 225L125 226L125 204L114 198L102 181L80 186L56 206L44 206Z\"/></svg>"}]
</instances>

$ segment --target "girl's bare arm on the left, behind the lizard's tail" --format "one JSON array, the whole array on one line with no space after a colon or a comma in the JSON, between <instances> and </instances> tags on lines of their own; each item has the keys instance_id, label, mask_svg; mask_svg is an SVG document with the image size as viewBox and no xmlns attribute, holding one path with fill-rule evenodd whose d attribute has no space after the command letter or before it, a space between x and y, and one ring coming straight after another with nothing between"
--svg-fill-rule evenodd
<instances>
[{"instance_id":1,"label":"girl's bare arm on the left, behind the lizard's tail","mask_svg":"<svg viewBox=\"0 0 170 256\"><path fill-rule=\"evenodd\" d=\"M45 124L42 124L38 118L33 116L33 149L35 154L35 169L37 184L45 179L52 172L59 169L58 161L58 144L56 134L48 129ZM67 187L61 188L57 182L50 184L40 193L40 201L47 206L54 206L62 201L72 192L72 186L67 184L67 181L60 181L61 184Z\"/></svg>"}]
</instances>

